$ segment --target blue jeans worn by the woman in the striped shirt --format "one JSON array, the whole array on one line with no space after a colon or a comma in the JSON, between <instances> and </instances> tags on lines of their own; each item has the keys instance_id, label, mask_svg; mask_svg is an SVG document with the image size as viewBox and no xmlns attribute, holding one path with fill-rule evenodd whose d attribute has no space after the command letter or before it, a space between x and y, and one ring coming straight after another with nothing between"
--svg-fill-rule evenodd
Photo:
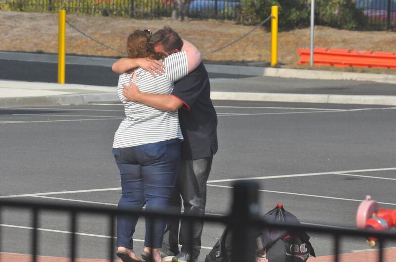
<instances>
[{"instance_id":1,"label":"blue jeans worn by the woman in the striped shirt","mask_svg":"<svg viewBox=\"0 0 396 262\"><path fill-rule=\"evenodd\" d=\"M122 196L118 208L166 210L177 180L180 162L180 140L171 139L140 146L113 148L115 163L120 170ZM139 216L118 216L117 246L133 248L133 233ZM160 248L165 219L146 218L145 246ZM151 239L151 236L153 239Z\"/></svg>"}]
</instances>

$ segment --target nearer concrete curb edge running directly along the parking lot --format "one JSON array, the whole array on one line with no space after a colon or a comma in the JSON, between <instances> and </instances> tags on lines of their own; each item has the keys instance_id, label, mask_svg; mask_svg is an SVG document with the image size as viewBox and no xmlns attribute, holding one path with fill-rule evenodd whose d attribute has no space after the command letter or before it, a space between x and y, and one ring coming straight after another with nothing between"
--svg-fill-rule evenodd
<instances>
[{"instance_id":1,"label":"nearer concrete curb edge running directly along the parking lot","mask_svg":"<svg viewBox=\"0 0 396 262\"><path fill-rule=\"evenodd\" d=\"M336 95L336 94L290 94L252 92L211 92L213 100L266 101L295 103L364 104L396 106L396 96L386 95ZM70 105L95 102L118 102L115 92L81 93L38 97L0 98L0 107Z\"/></svg>"}]
</instances>

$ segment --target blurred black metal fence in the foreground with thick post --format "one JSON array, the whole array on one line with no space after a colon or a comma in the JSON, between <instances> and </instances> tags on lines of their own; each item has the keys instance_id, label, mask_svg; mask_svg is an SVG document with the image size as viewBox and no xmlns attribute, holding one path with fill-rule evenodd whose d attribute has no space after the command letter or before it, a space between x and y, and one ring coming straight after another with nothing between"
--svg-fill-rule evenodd
<instances>
[{"instance_id":1,"label":"blurred black metal fence in the foreground with thick post","mask_svg":"<svg viewBox=\"0 0 396 262\"><path fill-rule=\"evenodd\" d=\"M328 236L332 236L334 238L334 254L335 254L335 262L340 261L340 239L344 236L351 237L375 237L378 239L379 243L379 256L378 261L384 261L384 243L387 240L396 240L395 233L389 232L374 232L374 231L366 231L366 230L357 230L357 229L341 229L341 228L332 228L332 227L324 227L324 226L313 226L313 225L287 225L287 224L274 224L267 223L264 220L260 219L258 216L258 185L255 182L251 181L243 181L237 182L234 185L234 195L233 195L233 207L232 212L229 216L191 216L191 215L180 215L177 213L170 214L164 212L148 212L148 211L126 211L126 210L117 210L115 208L97 208L97 207L82 207L82 206L69 206L69 205L45 205L38 204L32 202L21 202L21 201L10 201L10 200L1 200L0 201L0 211L7 207L12 208L24 208L30 209L32 211L32 227L33 233L31 236L31 253L33 255L33 262L37 261L38 248L40 239L38 237L38 214L43 210L50 211L66 211L69 212L71 222L70 222L70 246L69 246L69 255L71 258L71 262L74 262L77 257L77 249L76 249L76 228L78 220L76 219L80 214L100 214L102 216L108 217L108 234L109 234L109 242L108 242L108 259L109 261L113 261L114 259L114 223L115 217L118 215L139 215L144 216L146 218L150 218L151 226L152 221L155 218L165 218L165 219L185 219L190 222L191 232L193 230L194 222L197 221L205 221L205 222L215 222L221 223L224 225L230 226L230 229L233 232L234 237L232 239L233 246L233 255L232 262L253 262L254 261L254 237L257 228L283 228L289 230L291 234L293 232L304 230L307 232L320 233ZM0 213L1 215L1 213ZM0 216L0 224L1 224L1 216ZM153 231L153 230L151 230ZM1 232L1 230L0 230ZM219 236L220 237L220 236ZM0 252L3 241L6 241L7 236L0 234ZM151 237L151 239L153 239ZM192 239L190 239L190 246L192 246ZM315 243L312 243L315 246ZM99 247L98 247L99 248ZM190 254L193 254L194 250L190 251ZM192 256L194 257L194 256Z\"/></svg>"}]
</instances>

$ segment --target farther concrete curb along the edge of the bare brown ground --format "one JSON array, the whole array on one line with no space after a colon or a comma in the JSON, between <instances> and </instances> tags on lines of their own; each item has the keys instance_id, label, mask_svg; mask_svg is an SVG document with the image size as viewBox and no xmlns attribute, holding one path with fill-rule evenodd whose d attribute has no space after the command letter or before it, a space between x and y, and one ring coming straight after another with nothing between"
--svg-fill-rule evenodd
<instances>
[{"instance_id":1,"label":"farther concrete curb along the edge of the bare brown ground","mask_svg":"<svg viewBox=\"0 0 396 262\"><path fill-rule=\"evenodd\" d=\"M36 54L4 51L0 51L0 59L44 63L58 62L56 54ZM66 64L71 65L95 65L111 67L111 65L116 60L117 59L115 58L66 55ZM317 80L373 81L386 84L396 84L396 75L213 64L205 64L205 66L209 73Z\"/></svg>"}]
</instances>

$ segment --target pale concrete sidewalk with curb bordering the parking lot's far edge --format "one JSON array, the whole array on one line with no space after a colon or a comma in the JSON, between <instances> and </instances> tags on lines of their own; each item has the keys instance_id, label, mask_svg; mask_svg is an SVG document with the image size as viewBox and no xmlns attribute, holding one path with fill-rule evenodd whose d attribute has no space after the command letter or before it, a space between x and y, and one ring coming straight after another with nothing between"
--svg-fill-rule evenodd
<instances>
[{"instance_id":1,"label":"pale concrete sidewalk with curb bordering the parking lot's far edge","mask_svg":"<svg viewBox=\"0 0 396 262\"><path fill-rule=\"evenodd\" d=\"M396 85L392 92L387 90L385 95L367 95L359 92L345 94L342 90L339 93L326 94L314 93L315 90L310 90L311 93L295 93L293 90L279 89L278 92L267 92L265 89L254 90L254 92L249 92L249 90L215 91L213 89L215 88L212 88L211 92L213 100L396 105ZM114 87L0 80L0 107L118 101Z\"/></svg>"}]
</instances>

